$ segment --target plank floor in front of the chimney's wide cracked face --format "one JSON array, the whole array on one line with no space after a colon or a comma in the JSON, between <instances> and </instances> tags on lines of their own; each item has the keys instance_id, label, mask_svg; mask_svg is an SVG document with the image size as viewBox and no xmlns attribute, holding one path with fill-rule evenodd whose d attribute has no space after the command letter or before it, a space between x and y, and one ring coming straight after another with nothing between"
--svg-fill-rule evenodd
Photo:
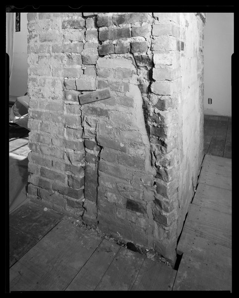
<instances>
[{"instance_id":1,"label":"plank floor in front of the chimney's wide cracked face","mask_svg":"<svg viewBox=\"0 0 239 298\"><path fill-rule=\"evenodd\" d=\"M11 214L10 292L172 290L176 270L49 212L29 202Z\"/></svg>"}]
</instances>

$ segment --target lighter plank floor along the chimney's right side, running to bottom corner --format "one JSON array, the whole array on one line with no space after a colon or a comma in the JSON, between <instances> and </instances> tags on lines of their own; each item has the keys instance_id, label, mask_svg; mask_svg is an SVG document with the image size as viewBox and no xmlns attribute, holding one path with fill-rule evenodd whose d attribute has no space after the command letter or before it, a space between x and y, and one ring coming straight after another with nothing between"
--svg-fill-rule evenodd
<instances>
[{"instance_id":1,"label":"lighter plank floor along the chimney's right side, running to bottom corner","mask_svg":"<svg viewBox=\"0 0 239 298\"><path fill-rule=\"evenodd\" d=\"M232 159L206 154L179 239L174 291L232 291Z\"/></svg>"}]
</instances>

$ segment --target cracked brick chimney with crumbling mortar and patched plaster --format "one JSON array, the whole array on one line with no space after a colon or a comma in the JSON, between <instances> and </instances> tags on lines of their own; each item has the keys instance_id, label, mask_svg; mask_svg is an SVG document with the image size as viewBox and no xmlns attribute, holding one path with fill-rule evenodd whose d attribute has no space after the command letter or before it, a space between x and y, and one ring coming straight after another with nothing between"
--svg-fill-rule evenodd
<instances>
[{"instance_id":1,"label":"cracked brick chimney with crumbling mortar and patched plaster","mask_svg":"<svg viewBox=\"0 0 239 298\"><path fill-rule=\"evenodd\" d=\"M174 262L202 157L201 16L28 20L31 200Z\"/></svg>"}]
</instances>

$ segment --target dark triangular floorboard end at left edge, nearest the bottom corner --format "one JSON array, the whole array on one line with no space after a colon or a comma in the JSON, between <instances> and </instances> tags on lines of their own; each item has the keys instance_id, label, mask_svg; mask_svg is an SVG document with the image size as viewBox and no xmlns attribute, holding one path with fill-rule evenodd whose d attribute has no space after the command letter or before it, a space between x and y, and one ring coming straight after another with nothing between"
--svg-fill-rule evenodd
<instances>
[{"instance_id":1,"label":"dark triangular floorboard end at left edge, nearest the bottom corner","mask_svg":"<svg viewBox=\"0 0 239 298\"><path fill-rule=\"evenodd\" d=\"M38 242L37 238L9 226L9 267Z\"/></svg>"}]
</instances>

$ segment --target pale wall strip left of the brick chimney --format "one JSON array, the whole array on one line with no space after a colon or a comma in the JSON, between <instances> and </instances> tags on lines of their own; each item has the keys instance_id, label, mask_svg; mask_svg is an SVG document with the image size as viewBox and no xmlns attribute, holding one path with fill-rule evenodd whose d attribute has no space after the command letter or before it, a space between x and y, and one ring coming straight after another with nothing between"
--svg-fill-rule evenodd
<instances>
[{"instance_id":1,"label":"pale wall strip left of the brick chimney","mask_svg":"<svg viewBox=\"0 0 239 298\"><path fill-rule=\"evenodd\" d=\"M27 13L21 12L20 32L15 32L14 13L13 67L9 84L9 97L23 96L27 92Z\"/></svg>"}]
</instances>

